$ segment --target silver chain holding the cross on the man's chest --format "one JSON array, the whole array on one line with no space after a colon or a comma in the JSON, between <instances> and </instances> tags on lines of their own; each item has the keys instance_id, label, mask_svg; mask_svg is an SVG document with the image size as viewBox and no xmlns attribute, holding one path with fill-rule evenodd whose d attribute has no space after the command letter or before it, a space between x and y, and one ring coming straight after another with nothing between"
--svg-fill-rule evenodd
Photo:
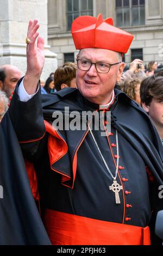
<instances>
[{"instance_id":1,"label":"silver chain holding the cross on the man's chest","mask_svg":"<svg viewBox=\"0 0 163 256\"><path fill-rule=\"evenodd\" d=\"M103 162L104 162L104 164L105 164L106 169L108 170L108 172L109 172L109 174L111 175L112 179L113 179L113 180L116 180L116 178L117 178L117 173L118 173L118 166L119 166L119 147L118 147L118 132L117 132L117 130L116 130L117 164L116 164L116 172L115 172L115 177L114 177L114 176L112 175L112 173L110 172L110 169L109 169L109 167L108 167L108 164L106 163L106 161L105 161L105 159L104 159L104 157L103 157L103 155L102 155L102 153L101 153L101 150L100 150L99 147L98 147L98 144L97 144L97 142L96 142L95 136L93 135L92 130L91 130L89 124L87 124L87 126L88 126L88 129L89 129L90 133L91 133L91 136L92 136L92 138L93 138L93 141L94 141L95 144L96 144L96 147L97 147L97 149L98 149L98 151L99 151L99 154L100 154L101 157L102 157L102 160L103 160Z\"/></svg>"}]
</instances>

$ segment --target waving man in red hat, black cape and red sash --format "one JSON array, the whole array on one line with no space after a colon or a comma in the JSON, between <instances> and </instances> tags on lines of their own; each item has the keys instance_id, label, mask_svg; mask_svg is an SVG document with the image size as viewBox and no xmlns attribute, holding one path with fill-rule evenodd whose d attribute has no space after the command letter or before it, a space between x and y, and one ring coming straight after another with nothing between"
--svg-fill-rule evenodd
<instances>
[{"instance_id":1,"label":"waving man in red hat, black cape and red sash","mask_svg":"<svg viewBox=\"0 0 163 256\"><path fill-rule=\"evenodd\" d=\"M18 82L1 126L1 185L16 179L10 190L4 187L3 243L16 244L20 238L21 244L48 244L49 238L62 246L158 242L154 223L163 209L158 196L162 144L148 115L116 88L124 69L122 54L133 35L101 14L78 17L72 23L74 44L80 50L78 89L41 96L37 88L44 58L43 40L35 44L38 27L37 21L29 22L26 76ZM29 186L33 196L39 195L46 233L37 228L41 219L36 208L28 210L34 204Z\"/></svg>"}]
</instances>

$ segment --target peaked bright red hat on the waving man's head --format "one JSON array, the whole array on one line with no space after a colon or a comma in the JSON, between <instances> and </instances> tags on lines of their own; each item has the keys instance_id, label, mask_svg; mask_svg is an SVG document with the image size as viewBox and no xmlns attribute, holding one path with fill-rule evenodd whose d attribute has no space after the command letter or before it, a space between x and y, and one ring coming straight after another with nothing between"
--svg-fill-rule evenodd
<instances>
[{"instance_id":1,"label":"peaked bright red hat on the waving man's head","mask_svg":"<svg viewBox=\"0 0 163 256\"><path fill-rule=\"evenodd\" d=\"M71 33L76 49L103 48L126 53L134 36L113 26L112 18L79 16L72 22Z\"/></svg>"}]
</instances>

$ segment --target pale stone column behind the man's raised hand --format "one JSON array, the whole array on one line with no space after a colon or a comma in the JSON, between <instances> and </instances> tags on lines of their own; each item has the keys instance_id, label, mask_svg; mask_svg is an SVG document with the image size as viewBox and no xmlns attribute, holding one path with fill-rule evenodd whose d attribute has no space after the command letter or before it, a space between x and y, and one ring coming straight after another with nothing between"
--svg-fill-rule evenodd
<instances>
[{"instance_id":1,"label":"pale stone column behind the man's raised hand","mask_svg":"<svg viewBox=\"0 0 163 256\"><path fill-rule=\"evenodd\" d=\"M42 78L57 68L57 54L47 45L47 0L0 0L0 65L16 65L26 72L26 36L29 20L38 19L45 39L45 66Z\"/></svg>"}]
</instances>

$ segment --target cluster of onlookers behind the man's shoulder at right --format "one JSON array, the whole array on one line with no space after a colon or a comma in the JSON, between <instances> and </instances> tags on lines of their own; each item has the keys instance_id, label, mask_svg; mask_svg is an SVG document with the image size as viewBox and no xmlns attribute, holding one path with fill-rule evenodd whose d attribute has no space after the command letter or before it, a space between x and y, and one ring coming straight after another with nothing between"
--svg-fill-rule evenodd
<instances>
[{"instance_id":1,"label":"cluster of onlookers behind the man's shoulder at right","mask_svg":"<svg viewBox=\"0 0 163 256\"><path fill-rule=\"evenodd\" d=\"M152 119L156 129L159 132L163 144L163 79L162 70L158 70L158 63L151 61L145 69L142 60L135 59L131 62L129 70L122 74L120 81L121 90L126 93L132 100L142 106ZM152 111L153 101L155 109ZM149 109L151 108L151 111ZM153 112L153 114L151 114Z\"/></svg>"}]
</instances>

